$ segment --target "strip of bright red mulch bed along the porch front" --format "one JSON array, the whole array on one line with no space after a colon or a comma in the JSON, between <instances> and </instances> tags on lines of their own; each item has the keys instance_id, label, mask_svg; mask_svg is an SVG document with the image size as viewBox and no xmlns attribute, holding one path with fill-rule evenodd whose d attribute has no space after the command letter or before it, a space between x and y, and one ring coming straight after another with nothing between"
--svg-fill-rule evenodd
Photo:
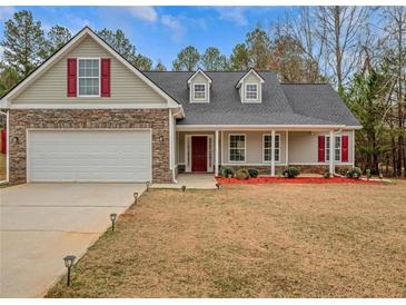
<instances>
[{"instance_id":1,"label":"strip of bright red mulch bed along the porch front","mask_svg":"<svg viewBox=\"0 0 406 305\"><path fill-rule=\"evenodd\" d=\"M296 177L296 178L285 178L285 177L258 177L249 178L247 180L238 180L236 178L220 178L216 177L217 181L221 185L259 185L259 184L372 184L380 185L380 181L368 181L368 180L357 180L349 179L345 177L334 177L334 178L323 178L323 177Z\"/></svg>"}]
</instances>

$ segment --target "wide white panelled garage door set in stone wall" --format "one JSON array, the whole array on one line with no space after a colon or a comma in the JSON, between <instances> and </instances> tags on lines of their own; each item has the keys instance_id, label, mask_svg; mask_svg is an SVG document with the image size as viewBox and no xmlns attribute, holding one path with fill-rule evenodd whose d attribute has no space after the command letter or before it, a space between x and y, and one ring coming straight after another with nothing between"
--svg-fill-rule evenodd
<instances>
[{"instance_id":1,"label":"wide white panelled garage door set in stone wall","mask_svg":"<svg viewBox=\"0 0 406 305\"><path fill-rule=\"evenodd\" d=\"M29 181L149 181L149 130L30 130Z\"/></svg>"}]
</instances>

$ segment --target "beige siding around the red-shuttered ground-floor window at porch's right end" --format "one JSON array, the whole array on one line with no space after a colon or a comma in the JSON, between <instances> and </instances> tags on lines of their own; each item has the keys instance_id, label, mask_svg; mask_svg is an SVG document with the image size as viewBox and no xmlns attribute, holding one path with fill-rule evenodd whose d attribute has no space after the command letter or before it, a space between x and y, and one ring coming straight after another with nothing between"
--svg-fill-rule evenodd
<instances>
[{"instance_id":1,"label":"beige siding around the red-shuttered ground-floor window at porch's right end","mask_svg":"<svg viewBox=\"0 0 406 305\"><path fill-rule=\"evenodd\" d=\"M348 136L348 164L351 164L353 132L343 131L340 135ZM289 164L318 164L318 136L329 136L329 132L290 131Z\"/></svg>"}]
</instances>

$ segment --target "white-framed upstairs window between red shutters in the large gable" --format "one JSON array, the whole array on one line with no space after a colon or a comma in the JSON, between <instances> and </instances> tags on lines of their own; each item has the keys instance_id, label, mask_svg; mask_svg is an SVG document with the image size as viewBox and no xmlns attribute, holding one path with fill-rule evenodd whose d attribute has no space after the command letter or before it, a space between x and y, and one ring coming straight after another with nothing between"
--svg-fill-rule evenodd
<instances>
[{"instance_id":1,"label":"white-framed upstairs window between red shutters in the large gable","mask_svg":"<svg viewBox=\"0 0 406 305\"><path fill-rule=\"evenodd\" d=\"M100 96L100 58L78 59L78 96Z\"/></svg>"}]
</instances>

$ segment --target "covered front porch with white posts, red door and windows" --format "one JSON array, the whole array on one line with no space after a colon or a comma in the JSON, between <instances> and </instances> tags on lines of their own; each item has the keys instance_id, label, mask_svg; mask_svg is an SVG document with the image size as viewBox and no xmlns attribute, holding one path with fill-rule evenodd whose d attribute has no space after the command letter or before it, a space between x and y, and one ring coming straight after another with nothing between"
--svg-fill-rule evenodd
<instances>
[{"instance_id":1,"label":"covered front porch with white posts, red door and windows","mask_svg":"<svg viewBox=\"0 0 406 305\"><path fill-rule=\"evenodd\" d=\"M269 176L277 176L287 166L296 166L306 174L333 175L337 168L354 166L354 130L177 126L176 174L218 176L221 166L256 168Z\"/></svg>"}]
</instances>

